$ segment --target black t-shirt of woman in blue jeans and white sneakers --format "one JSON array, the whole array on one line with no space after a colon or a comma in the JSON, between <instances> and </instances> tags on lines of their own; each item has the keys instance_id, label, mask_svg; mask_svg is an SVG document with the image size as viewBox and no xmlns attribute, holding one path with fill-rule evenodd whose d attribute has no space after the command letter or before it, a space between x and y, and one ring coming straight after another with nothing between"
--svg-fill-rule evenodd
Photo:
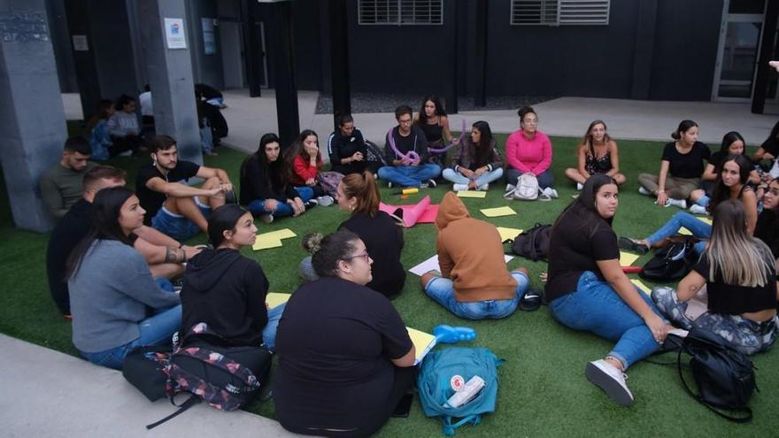
<instances>
[{"instance_id":1,"label":"black t-shirt of woman in blue jeans and white sneakers","mask_svg":"<svg viewBox=\"0 0 779 438\"><path fill-rule=\"evenodd\" d=\"M594 212L566 211L551 229L549 246L549 279L547 300L576 291L579 277L591 271L603 280L596 261L620 258L617 235L604 219Z\"/></svg>"}]
</instances>

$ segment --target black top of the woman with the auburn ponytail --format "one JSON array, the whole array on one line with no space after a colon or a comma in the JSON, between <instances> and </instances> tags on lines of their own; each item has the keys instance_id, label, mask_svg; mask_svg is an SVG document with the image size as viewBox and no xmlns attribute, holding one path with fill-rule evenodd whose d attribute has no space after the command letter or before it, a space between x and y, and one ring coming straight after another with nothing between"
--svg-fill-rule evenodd
<instances>
[{"instance_id":1,"label":"black top of the woman with the auburn ponytail","mask_svg":"<svg viewBox=\"0 0 779 438\"><path fill-rule=\"evenodd\" d=\"M343 221L338 229L341 228L359 235L366 244L368 254L374 259L371 265L374 279L366 286L384 296L399 294L405 283L405 269L400 263L403 230L395 225L390 215L384 211L379 211L375 218L365 213L355 214Z\"/></svg>"}]
</instances>

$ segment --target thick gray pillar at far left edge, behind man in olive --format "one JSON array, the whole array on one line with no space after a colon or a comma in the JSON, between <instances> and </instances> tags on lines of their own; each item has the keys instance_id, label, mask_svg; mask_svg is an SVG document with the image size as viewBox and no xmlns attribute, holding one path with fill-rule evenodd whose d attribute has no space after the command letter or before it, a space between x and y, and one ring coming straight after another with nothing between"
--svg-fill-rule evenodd
<instances>
[{"instance_id":1,"label":"thick gray pillar at far left edge, behind man in olive","mask_svg":"<svg viewBox=\"0 0 779 438\"><path fill-rule=\"evenodd\" d=\"M38 179L67 130L43 0L0 0L0 158L17 227L44 232Z\"/></svg>"}]
</instances>

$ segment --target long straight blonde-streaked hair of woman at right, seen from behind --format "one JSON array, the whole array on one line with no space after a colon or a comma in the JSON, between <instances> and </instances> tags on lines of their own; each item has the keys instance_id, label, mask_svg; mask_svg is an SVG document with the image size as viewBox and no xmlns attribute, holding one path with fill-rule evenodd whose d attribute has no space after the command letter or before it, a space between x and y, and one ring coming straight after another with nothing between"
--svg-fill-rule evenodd
<instances>
[{"instance_id":1,"label":"long straight blonde-streaked hair of woman at right, seen from behind","mask_svg":"<svg viewBox=\"0 0 779 438\"><path fill-rule=\"evenodd\" d=\"M726 284L746 288L765 286L774 265L767 245L746 232L744 206L732 199L714 209L712 240L704 257L709 281L720 273Z\"/></svg>"}]
</instances>

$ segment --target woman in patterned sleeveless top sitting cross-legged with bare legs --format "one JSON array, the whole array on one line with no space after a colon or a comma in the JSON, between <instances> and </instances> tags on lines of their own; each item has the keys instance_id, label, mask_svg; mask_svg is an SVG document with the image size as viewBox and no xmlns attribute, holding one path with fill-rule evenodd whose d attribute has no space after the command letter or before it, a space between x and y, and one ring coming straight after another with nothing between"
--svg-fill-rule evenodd
<instances>
[{"instance_id":1,"label":"woman in patterned sleeveless top sitting cross-legged with bare legs","mask_svg":"<svg viewBox=\"0 0 779 438\"><path fill-rule=\"evenodd\" d=\"M587 128L582 142L576 150L578 166L566 169L566 176L576 183L576 189L581 190L590 175L605 173L622 185L627 181L620 173L620 155L617 142L606 133L603 120L595 120Z\"/></svg>"}]
</instances>

